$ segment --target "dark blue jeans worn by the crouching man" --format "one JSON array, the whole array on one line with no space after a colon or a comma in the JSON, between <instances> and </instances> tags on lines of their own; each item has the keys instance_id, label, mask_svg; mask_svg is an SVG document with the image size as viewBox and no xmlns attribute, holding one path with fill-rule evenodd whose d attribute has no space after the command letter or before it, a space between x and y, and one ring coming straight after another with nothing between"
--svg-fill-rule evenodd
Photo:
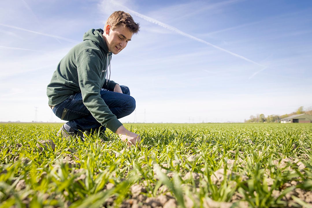
<instances>
[{"instance_id":1,"label":"dark blue jeans worn by the crouching man","mask_svg":"<svg viewBox=\"0 0 312 208\"><path fill-rule=\"evenodd\" d=\"M130 90L127 86L120 85L123 92L117 93L108 90L101 90L101 98L109 107L110 111L120 119L131 114L135 109L135 100L130 96ZM64 108L68 109L64 115ZM53 113L60 119L68 121L71 128L76 131L97 130L103 127L90 113L82 102L81 93L72 94L69 98L57 104L53 108Z\"/></svg>"}]
</instances>

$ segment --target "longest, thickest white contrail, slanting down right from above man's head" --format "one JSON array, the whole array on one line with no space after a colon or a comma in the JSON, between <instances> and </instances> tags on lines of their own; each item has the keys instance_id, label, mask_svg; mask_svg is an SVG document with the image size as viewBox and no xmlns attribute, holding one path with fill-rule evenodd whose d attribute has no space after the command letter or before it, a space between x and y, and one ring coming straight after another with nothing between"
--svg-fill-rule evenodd
<instances>
[{"instance_id":1,"label":"longest, thickest white contrail, slanting down right from above man's head","mask_svg":"<svg viewBox=\"0 0 312 208\"><path fill-rule=\"evenodd\" d=\"M175 27L172 27L172 26L170 26L170 25L168 25L168 24L166 24L166 23L160 22L160 21L158 21L158 20L156 20L156 19L154 19L154 18L152 18L152 17L148 17L148 16L145 16L145 15L143 15L143 14L140 14L139 12L135 12L135 11L129 9L128 7L126 7L126 6L124 6L124 5L120 4L120 3L117 3L117 2L112 1L112 0L111 0L110 2L114 3L114 4L117 5L117 6L126 8L126 9L129 10L131 13L133 13L134 15L136 15L136 16L138 16L138 17L141 17L142 19L144 19L144 20L146 20L146 21L148 21L148 22L152 22L152 23L154 23L154 24L156 24L156 25L159 25L159 26L161 26L161 27L164 27L164 28L166 28L166 29L168 29L168 30L174 31L174 32L176 32L176 33L178 33L178 34L180 34L180 35L182 35L182 36L191 38L191 39L193 39L193 40L195 40L195 41L198 41L198 42L202 42L202 43L204 43L204 44L206 44L206 45L208 45L208 46L212 46L212 47L214 47L214 48L216 48L216 49L218 49L218 50L220 50L220 51L224 51L224 52L226 52L226 53L229 53L229 54L231 54L232 56L235 56L235 57L237 57L237 58L246 60L246 61L248 61L248 62L251 62L251 63L253 63L253 64L256 64L256 65L259 65L259 66L262 66L262 67L266 67L266 66L264 66L264 65L262 65L262 64L259 64L259 63L255 62L255 61L253 61L253 60L247 59L247 58L244 57L244 56L238 55L238 54L233 53L233 52L231 52L231 51L228 51L228 50L226 50L226 49L224 49L224 48L221 48L221 47L219 47L219 46L213 45L212 43L209 43L209 42L204 41L204 40L202 40L202 39L199 39L199 38L197 38L197 37L195 37L195 36L192 36L192 35L190 35L190 34L187 34L187 33L183 32L183 31L181 31L181 30L179 30L179 29L177 29L177 28L175 28Z\"/></svg>"}]
</instances>

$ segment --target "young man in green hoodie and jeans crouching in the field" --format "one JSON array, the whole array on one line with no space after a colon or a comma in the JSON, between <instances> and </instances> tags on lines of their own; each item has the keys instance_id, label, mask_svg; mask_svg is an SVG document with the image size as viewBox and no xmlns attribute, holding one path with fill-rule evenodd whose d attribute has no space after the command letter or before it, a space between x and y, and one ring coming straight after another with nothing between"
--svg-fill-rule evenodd
<instances>
[{"instance_id":1,"label":"young man in green hoodie and jeans crouching in the field","mask_svg":"<svg viewBox=\"0 0 312 208\"><path fill-rule=\"evenodd\" d=\"M118 120L134 111L135 100L126 86L108 77L112 54L122 51L138 31L139 23L130 14L114 12L104 31L87 31L83 42L60 61L47 86L49 106L57 117L68 121L58 134L83 139L82 132L105 131L107 127L129 145L140 141L138 134L124 128Z\"/></svg>"}]
</instances>

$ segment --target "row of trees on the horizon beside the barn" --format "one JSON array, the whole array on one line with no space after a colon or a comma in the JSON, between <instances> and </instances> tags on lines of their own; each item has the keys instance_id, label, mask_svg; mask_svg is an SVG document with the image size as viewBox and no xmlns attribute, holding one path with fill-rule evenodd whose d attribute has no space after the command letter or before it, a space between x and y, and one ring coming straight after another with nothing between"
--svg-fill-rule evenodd
<instances>
[{"instance_id":1,"label":"row of trees on the horizon beside the barn","mask_svg":"<svg viewBox=\"0 0 312 208\"><path fill-rule=\"evenodd\" d=\"M246 120L245 123L279 123L280 119L287 118L288 116L296 115L296 114L309 114L312 115L312 106L305 109L303 106L300 106L297 111L292 112L290 114L284 114L284 115L268 115L265 117L264 114L257 114L256 116L251 115L250 119Z\"/></svg>"}]
</instances>

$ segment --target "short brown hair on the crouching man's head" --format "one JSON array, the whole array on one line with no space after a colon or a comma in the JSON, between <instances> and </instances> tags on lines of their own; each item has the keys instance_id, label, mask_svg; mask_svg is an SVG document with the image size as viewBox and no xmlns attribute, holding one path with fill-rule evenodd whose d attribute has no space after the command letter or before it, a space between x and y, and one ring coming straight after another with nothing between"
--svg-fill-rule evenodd
<instances>
[{"instance_id":1,"label":"short brown hair on the crouching man's head","mask_svg":"<svg viewBox=\"0 0 312 208\"><path fill-rule=\"evenodd\" d=\"M127 27L132 33L138 33L140 29L140 24L134 22L131 15L124 11L113 12L110 17L108 17L105 23L105 27L106 25L110 25L112 30L114 30L119 25L123 25L124 27Z\"/></svg>"}]
</instances>

